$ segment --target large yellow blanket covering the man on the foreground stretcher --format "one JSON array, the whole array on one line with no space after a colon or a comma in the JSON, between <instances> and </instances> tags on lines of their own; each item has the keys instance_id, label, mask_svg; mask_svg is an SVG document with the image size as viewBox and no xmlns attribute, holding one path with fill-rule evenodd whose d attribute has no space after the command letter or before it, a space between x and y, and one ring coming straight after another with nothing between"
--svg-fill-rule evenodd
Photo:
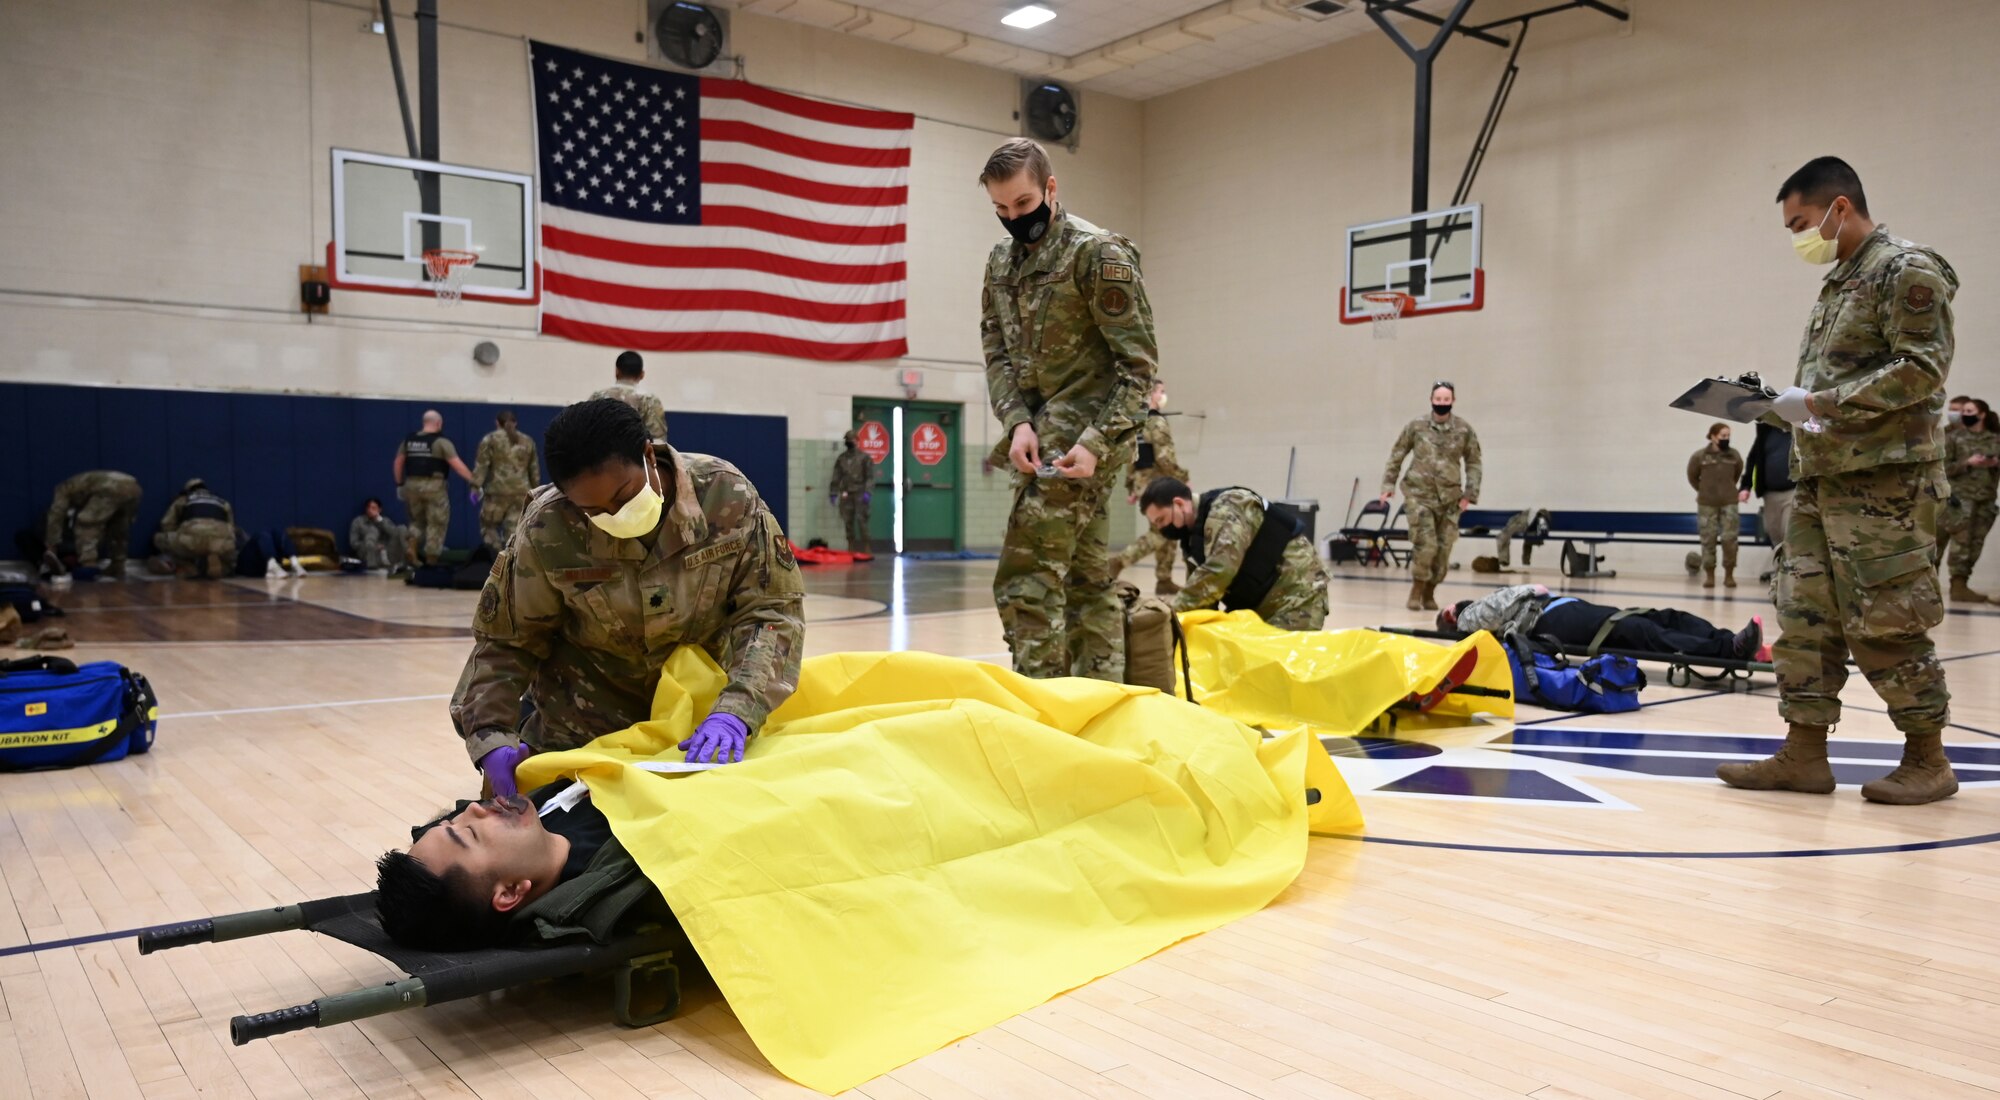
<instances>
[{"instance_id":1,"label":"large yellow blanket covering the man on the foreground stretcher","mask_svg":"<svg viewBox=\"0 0 2000 1100\"><path fill-rule=\"evenodd\" d=\"M1310 736L916 652L808 660L742 764L630 766L680 760L722 686L684 646L650 722L520 786L588 784L758 1050L824 1092L1256 912L1308 830L1362 824Z\"/></svg>"}]
</instances>

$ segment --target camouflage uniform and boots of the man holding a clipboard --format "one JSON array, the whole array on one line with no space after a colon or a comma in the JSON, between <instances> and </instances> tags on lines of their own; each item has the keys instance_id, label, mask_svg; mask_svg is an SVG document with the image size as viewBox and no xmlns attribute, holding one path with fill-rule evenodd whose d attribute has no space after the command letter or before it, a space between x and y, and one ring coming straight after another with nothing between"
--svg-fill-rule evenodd
<instances>
[{"instance_id":1,"label":"camouflage uniform and boots of the man holding a clipboard","mask_svg":"<svg viewBox=\"0 0 2000 1100\"><path fill-rule=\"evenodd\" d=\"M1792 728L1770 760L1716 768L1730 786L1834 790L1826 734L1852 654L1904 734L1902 764L1862 784L1862 796L1912 804L1958 790L1942 746L1952 696L1930 640L1944 620L1938 414L1956 290L1942 256L1880 226L1820 286L1796 384L1822 430L1792 434L1798 496L1774 584L1778 714Z\"/></svg>"}]
</instances>

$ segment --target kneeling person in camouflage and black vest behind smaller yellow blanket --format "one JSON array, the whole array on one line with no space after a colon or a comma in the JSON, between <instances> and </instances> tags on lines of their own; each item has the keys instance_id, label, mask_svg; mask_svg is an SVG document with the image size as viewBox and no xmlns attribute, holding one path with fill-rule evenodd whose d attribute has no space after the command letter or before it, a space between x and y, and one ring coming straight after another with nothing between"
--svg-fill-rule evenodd
<instances>
[{"instance_id":1,"label":"kneeling person in camouflage and black vest behind smaller yellow blanket","mask_svg":"<svg viewBox=\"0 0 2000 1100\"><path fill-rule=\"evenodd\" d=\"M1326 570L1306 524L1284 506L1246 488L1212 488L1196 500L1180 478L1154 478L1138 506L1188 558L1174 612L1256 610L1284 630L1326 622Z\"/></svg>"}]
</instances>

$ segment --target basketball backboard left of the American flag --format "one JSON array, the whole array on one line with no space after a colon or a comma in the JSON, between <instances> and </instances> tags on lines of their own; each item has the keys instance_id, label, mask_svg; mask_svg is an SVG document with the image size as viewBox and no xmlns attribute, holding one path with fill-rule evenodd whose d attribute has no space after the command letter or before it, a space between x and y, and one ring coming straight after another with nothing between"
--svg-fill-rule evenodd
<instances>
[{"instance_id":1,"label":"basketball backboard left of the American flag","mask_svg":"<svg viewBox=\"0 0 2000 1100\"><path fill-rule=\"evenodd\" d=\"M476 302L534 304L534 176L336 148L328 282L346 290L434 294L424 248L478 252L464 276ZM424 210L418 174L438 178Z\"/></svg>"}]
</instances>

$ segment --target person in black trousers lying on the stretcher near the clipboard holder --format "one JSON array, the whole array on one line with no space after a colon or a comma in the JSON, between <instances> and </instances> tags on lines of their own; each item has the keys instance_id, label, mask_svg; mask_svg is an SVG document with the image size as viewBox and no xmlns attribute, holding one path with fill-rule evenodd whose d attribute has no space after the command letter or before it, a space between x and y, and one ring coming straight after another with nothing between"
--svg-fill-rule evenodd
<instances>
[{"instance_id":1,"label":"person in black trousers lying on the stretcher near the clipboard holder","mask_svg":"<svg viewBox=\"0 0 2000 1100\"><path fill-rule=\"evenodd\" d=\"M1764 648L1764 620L1750 618L1742 630L1724 630L1698 614L1672 608L1608 608L1554 596L1542 584L1514 584L1478 600L1458 600L1438 612L1438 630L1496 638L1508 632L1544 634L1564 646L1612 648L1644 654L1714 656L1728 660L1770 660Z\"/></svg>"}]
</instances>

